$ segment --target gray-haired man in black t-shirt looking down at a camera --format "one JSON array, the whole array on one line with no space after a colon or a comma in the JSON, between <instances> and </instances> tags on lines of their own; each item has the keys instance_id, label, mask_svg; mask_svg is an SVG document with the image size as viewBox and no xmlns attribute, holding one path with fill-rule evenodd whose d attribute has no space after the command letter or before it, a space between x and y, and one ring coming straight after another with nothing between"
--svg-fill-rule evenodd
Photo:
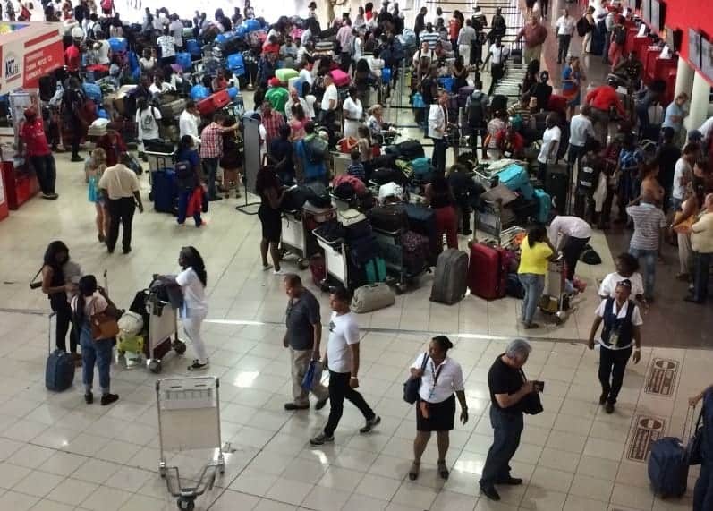
<instances>
[{"instance_id":1,"label":"gray-haired man in black t-shirt looking down at a camera","mask_svg":"<svg viewBox=\"0 0 713 511\"><path fill-rule=\"evenodd\" d=\"M480 490L490 500L500 500L496 484L522 484L522 479L510 475L510 460L520 446L522 413L542 411L538 393L545 387L542 381L528 381L522 372L531 351L527 341L514 339L488 371L494 438L480 477Z\"/></svg>"}]
</instances>

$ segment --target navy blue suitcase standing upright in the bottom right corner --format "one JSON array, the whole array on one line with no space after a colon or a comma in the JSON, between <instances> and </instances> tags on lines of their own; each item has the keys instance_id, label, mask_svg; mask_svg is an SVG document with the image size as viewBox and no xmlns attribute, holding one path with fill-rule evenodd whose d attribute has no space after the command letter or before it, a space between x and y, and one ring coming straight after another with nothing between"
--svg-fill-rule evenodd
<instances>
[{"instance_id":1,"label":"navy blue suitcase standing upright in the bottom right corner","mask_svg":"<svg viewBox=\"0 0 713 511\"><path fill-rule=\"evenodd\" d=\"M649 481L661 498L681 497L688 482L688 456L681 439L665 437L651 445Z\"/></svg>"}]
</instances>

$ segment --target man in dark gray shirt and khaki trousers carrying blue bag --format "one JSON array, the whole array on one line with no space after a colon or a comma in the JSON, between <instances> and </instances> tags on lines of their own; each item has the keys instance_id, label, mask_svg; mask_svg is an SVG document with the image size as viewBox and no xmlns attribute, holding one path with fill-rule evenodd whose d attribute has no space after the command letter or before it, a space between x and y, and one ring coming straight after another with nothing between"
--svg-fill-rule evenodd
<instances>
[{"instance_id":1,"label":"man in dark gray shirt and khaki trousers carrying blue bag","mask_svg":"<svg viewBox=\"0 0 713 511\"><path fill-rule=\"evenodd\" d=\"M319 315L319 302L314 294L305 289L298 275L284 277L284 292L290 297L287 303L283 345L290 349L293 377L293 402L285 403L285 410L306 410L310 408L309 392L301 387L310 362L319 360L319 343L322 340L322 324ZM320 382L311 388L317 396L315 408L321 410L327 404L329 390Z\"/></svg>"}]
</instances>

